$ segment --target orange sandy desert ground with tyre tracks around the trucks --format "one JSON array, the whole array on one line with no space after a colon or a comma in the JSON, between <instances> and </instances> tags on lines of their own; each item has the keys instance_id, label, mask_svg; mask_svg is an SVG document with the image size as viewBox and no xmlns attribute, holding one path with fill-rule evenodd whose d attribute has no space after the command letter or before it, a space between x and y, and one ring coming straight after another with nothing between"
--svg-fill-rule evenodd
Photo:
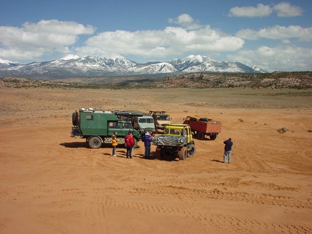
<instances>
[{"instance_id":1,"label":"orange sandy desert ground with tyre tracks around the trucks","mask_svg":"<svg viewBox=\"0 0 312 234\"><path fill-rule=\"evenodd\" d=\"M259 95L276 92L292 91L1 88L0 233L312 233L312 97ZM205 116L222 132L186 161L143 159L142 142L113 157L70 137L81 107Z\"/></svg>"}]
</instances>

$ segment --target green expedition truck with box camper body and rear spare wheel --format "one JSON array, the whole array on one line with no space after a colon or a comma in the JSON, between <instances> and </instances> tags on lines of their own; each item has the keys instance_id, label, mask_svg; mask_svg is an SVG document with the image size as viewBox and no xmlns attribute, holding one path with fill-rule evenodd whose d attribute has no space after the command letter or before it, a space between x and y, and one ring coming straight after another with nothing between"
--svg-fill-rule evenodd
<instances>
[{"instance_id":1,"label":"green expedition truck with box camper body and rear spare wheel","mask_svg":"<svg viewBox=\"0 0 312 234\"><path fill-rule=\"evenodd\" d=\"M72 115L71 136L75 138L85 138L92 149L98 149L102 143L111 143L112 135L117 132L117 142L124 143L124 137L132 130L132 134L137 146L137 141L141 139L137 130L133 129L130 121L117 117L118 112L95 111L93 108L81 108L79 112ZM125 113L126 114L126 113ZM120 115L118 115L120 116Z\"/></svg>"}]
</instances>

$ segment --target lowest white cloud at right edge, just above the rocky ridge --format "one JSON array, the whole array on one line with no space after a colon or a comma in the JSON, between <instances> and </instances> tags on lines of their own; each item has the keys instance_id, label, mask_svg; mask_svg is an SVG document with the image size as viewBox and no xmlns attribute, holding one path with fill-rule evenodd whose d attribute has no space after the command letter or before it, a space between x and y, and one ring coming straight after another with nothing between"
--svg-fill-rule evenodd
<instances>
[{"instance_id":1,"label":"lowest white cloud at right edge, just above the rocky ridge","mask_svg":"<svg viewBox=\"0 0 312 234\"><path fill-rule=\"evenodd\" d=\"M260 46L257 50L242 50L227 58L248 66L257 65L268 72L311 71L312 67L312 49L288 45Z\"/></svg>"}]
</instances>

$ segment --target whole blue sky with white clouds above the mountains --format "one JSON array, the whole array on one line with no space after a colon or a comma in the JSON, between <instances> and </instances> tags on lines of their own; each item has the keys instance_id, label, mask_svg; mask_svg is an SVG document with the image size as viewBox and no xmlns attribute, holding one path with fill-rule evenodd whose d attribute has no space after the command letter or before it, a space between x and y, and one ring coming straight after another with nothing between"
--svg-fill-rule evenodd
<instances>
[{"instance_id":1,"label":"whole blue sky with white clouds above the mountains","mask_svg":"<svg viewBox=\"0 0 312 234\"><path fill-rule=\"evenodd\" d=\"M0 0L0 59L136 62L205 55L312 70L311 0Z\"/></svg>"}]
</instances>

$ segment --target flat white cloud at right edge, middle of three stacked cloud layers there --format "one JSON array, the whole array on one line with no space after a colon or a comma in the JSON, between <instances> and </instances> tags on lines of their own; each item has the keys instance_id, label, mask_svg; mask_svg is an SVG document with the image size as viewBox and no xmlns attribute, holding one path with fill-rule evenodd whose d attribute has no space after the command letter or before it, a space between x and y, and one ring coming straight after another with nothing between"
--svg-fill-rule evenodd
<instances>
[{"instance_id":1,"label":"flat white cloud at right edge, middle of three stacked cloud layers there","mask_svg":"<svg viewBox=\"0 0 312 234\"><path fill-rule=\"evenodd\" d=\"M300 41L312 42L312 27L302 28L291 25L289 27L275 25L273 27L262 28L259 31L252 29L242 29L236 33L236 36L243 39L256 40L260 38L268 39L290 39L298 38Z\"/></svg>"}]
</instances>

